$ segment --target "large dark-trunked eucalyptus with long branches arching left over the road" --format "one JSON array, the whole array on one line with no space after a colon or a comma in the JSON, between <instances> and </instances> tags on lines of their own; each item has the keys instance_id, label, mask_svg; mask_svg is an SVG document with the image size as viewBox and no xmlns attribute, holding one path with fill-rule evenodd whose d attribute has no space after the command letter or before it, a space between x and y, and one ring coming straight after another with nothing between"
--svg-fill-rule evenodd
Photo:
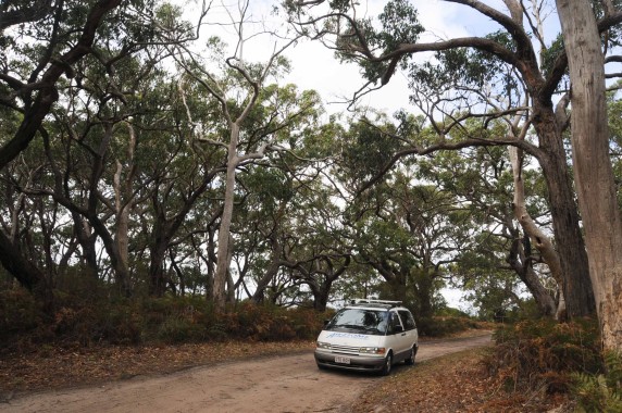
<instances>
[{"instance_id":1,"label":"large dark-trunked eucalyptus with long branches arching left over the road","mask_svg":"<svg viewBox=\"0 0 622 413\"><path fill-rule=\"evenodd\" d=\"M538 161L548 187L568 313L570 316L588 314L594 310L594 297L586 276L589 273L587 253L562 137L569 125L564 111L569 102L564 90L568 55L559 36L552 42L545 37L545 8L550 4L505 0L507 10L500 10L476 0L446 2L460 4L464 12L486 18L497 29L492 28L488 35L481 37L422 41L424 27L414 5L405 0L386 4L378 15L380 28L370 18L361 18L357 5L349 2L331 2L327 4L329 12L321 16L311 13L321 10L315 7L327 3L325 1L291 1L287 5L293 13L298 13L295 18L306 33L321 35L326 41L328 35L334 35L332 47L339 55L361 64L369 79L362 93L378 83L382 86L389 82L397 70L409 68L414 89L412 99L425 110L428 122L437 129L438 139L427 147L405 140L401 151L387 168L408 154L483 145L514 146ZM599 14L597 22L600 33L614 28L622 21L622 13L613 7L605 9L607 14ZM610 47L606 50L610 53L614 52L617 37L614 30L607 36ZM435 59L409 65L410 58L425 52L435 52ZM553 101L559 102L557 108ZM507 115L520 120L508 122L512 127L508 136L446 139L467 117L476 117L486 126L490 120ZM524 139L532 128L537 142Z\"/></svg>"}]
</instances>

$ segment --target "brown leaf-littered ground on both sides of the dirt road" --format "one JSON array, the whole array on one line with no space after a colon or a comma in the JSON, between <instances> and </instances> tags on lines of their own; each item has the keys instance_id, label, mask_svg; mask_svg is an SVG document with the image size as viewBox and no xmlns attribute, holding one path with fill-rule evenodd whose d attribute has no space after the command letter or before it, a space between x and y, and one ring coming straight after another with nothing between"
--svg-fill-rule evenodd
<instances>
[{"instance_id":1,"label":"brown leaf-littered ground on both sides of the dirt road","mask_svg":"<svg viewBox=\"0 0 622 413\"><path fill-rule=\"evenodd\" d=\"M463 333L482 334L482 330ZM0 350L0 408L42 390L161 375L198 365L312 351L314 342L215 342L177 346ZM489 377L486 349L418 362L364 391L348 412L570 412L563 395L508 392ZM1 410L1 409L0 409Z\"/></svg>"}]
</instances>

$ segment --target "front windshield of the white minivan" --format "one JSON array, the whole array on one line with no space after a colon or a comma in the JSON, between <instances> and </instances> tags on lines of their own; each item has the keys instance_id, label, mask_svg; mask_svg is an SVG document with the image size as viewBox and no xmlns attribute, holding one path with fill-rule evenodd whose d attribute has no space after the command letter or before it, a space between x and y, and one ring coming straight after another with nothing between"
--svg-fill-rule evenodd
<instances>
[{"instance_id":1,"label":"front windshield of the white minivan","mask_svg":"<svg viewBox=\"0 0 622 413\"><path fill-rule=\"evenodd\" d=\"M387 320L388 312L386 310L341 309L326 325L325 329L384 336L387 330Z\"/></svg>"}]
</instances>

